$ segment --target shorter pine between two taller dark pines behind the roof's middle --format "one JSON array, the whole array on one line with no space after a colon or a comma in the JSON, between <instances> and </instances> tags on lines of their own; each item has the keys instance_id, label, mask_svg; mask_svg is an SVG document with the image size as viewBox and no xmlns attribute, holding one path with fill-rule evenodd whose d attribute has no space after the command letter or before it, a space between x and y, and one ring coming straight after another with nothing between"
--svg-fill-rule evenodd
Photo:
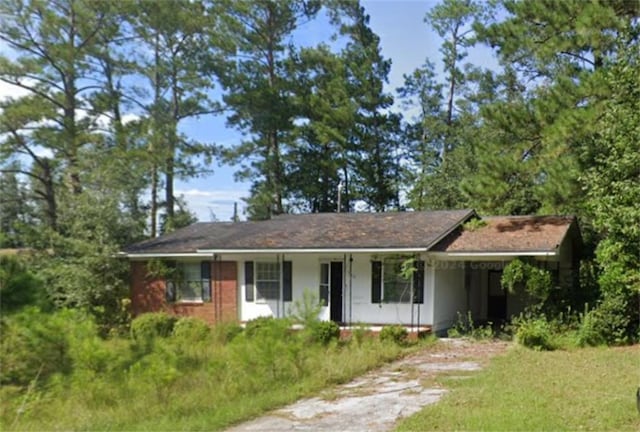
<instances>
[{"instance_id":1,"label":"shorter pine between two taller dark pines behind the roof's middle","mask_svg":"<svg viewBox=\"0 0 640 432\"><path fill-rule=\"evenodd\" d=\"M341 175L348 171L347 134L355 109L345 82L345 64L326 45L303 48L291 60L299 107L287 170L288 195L298 211L338 209Z\"/></svg>"}]
</instances>

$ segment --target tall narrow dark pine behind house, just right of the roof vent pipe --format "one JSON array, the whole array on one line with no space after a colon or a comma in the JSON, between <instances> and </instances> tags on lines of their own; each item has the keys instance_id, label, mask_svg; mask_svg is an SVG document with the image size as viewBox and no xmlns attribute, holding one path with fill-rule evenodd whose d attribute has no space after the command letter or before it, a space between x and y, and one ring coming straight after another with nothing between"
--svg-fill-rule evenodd
<instances>
[{"instance_id":1,"label":"tall narrow dark pine behind house, just right of the roof vent pipe","mask_svg":"<svg viewBox=\"0 0 640 432\"><path fill-rule=\"evenodd\" d=\"M393 97L383 88L391 61L382 56L380 38L369 27L364 8L346 2L342 12L341 33L349 38L342 53L347 91L357 107L347 144L353 171L344 178L345 204L362 200L375 211L398 209L400 117L386 112Z\"/></svg>"}]
</instances>

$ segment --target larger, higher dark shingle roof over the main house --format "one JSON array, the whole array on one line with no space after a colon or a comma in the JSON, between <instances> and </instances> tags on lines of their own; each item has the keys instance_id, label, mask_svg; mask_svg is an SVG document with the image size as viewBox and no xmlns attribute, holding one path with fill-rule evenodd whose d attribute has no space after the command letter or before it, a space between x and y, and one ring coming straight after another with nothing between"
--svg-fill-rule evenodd
<instances>
[{"instance_id":1,"label":"larger, higher dark shingle roof over the main house","mask_svg":"<svg viewBox=\"0 0 640 432\"><path fill-rule=\"evenodd\" d=\"M282 215L257 222L199 222L134 244L128 254L198 250L428 248L473 210Z\"/></svg>"}]
</instances>

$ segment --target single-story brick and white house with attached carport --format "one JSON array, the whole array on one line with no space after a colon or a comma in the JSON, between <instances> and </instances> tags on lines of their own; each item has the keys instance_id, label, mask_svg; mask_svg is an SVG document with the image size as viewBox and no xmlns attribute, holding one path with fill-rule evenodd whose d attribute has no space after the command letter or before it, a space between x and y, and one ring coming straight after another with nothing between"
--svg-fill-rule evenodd
<instances>
[{"instance_id":1,"label":"single-story brick and white house with attached carport","mask_svg":"<svg viewBox=\"0 0 640 432\"><path fill-rule=\"evenodd\" d=\"M558 284L576 283L579 249L571 216L452 210L199 222L122 254L134 314L164 310L210 323L283 317L310 290L325 305L323 320L441 332L458 312L496 322L523 310L526 296L500 284L514 258L549 269ZM181 276L151 271L159 262Z\"/></svg>"}]
</instances>

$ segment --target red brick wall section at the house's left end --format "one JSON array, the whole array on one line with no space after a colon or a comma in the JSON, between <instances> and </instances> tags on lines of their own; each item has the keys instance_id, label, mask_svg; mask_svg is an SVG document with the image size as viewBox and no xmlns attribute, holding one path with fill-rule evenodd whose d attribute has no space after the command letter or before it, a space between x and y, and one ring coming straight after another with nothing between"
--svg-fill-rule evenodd
<instances>
[{"instance_id":1,"label":"red brick wall section at the house's left end","mask_svg":"<svg viewBox=\"0 0 640 432\"><path fill-rule=\"evenodd\" d=\"M238 267L234 261L211 263L211 302L168 303L165 281L147 276L146 262L131 262L131 309L134 316L165 311L193 316L209 324L238 320Z\"/></svg>"}]
</instances>

